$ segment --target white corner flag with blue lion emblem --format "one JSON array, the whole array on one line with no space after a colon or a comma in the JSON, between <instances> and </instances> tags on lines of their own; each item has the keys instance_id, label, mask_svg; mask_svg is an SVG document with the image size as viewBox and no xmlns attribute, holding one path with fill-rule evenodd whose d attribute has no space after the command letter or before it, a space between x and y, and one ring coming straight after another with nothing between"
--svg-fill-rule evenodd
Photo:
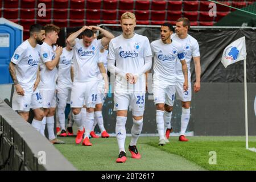
<instances>
[{"instance_id":1,"label":"white corner flag with blue lion emblem","mask_svg":"<svg viewBox=\"0 0 256 182\"><path fill-rule=\"evenodd\" d=\"M235 40L224 49L221 63L226 68L228 65L244 59L246 59L245 36Z\"/></svg>"}]
</instances>

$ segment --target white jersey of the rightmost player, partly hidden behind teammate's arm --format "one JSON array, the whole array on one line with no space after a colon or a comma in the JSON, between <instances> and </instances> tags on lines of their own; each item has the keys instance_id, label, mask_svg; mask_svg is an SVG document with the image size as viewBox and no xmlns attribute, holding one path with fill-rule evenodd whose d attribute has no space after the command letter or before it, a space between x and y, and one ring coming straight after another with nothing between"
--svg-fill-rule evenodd
<instances>
[{"instance_id":1,"label":"white jersey of the rightmost player, partly hidden behind teammate's arm","mask_svg":"<svg viewBox=\"0 0 256 182\"><path fill-rule=\"evenodd\" d=\"M191 35L188 35L187 38L185 39L180 39L179 36L177 36L176 34L172 34L171 39L179 42L184 48L185 59L188 67L188 81L191 81L190 64L191 64L192 57L200 56L199 44L197 40L193 38ZM177 61L177 64L176 64L176 77L177 77L177 81L181 81L181 82L184 81L181 63L179 61Z\"/></svg>"}]
</instances>

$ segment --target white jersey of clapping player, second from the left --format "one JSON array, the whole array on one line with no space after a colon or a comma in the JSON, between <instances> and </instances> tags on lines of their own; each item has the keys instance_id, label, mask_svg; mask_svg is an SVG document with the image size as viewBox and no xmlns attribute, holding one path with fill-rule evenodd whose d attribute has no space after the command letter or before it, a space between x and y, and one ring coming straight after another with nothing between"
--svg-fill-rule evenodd
<instances>
[{"instance_id":1,"label":"white jersey of clapping player, second from the left","mask_svg":"<svg viewBox=\"0 0 256 182\"><path fill-rule=\"evenodd\" d=\"M56 46L49 46L47 43L43 43L40 49L41 60L40 66L40 83L38 85L39 90L55 90L55 75L57 73L56 67L49 70L46 67L48 61L55 59Z\"/></svg>"}]
</instances>

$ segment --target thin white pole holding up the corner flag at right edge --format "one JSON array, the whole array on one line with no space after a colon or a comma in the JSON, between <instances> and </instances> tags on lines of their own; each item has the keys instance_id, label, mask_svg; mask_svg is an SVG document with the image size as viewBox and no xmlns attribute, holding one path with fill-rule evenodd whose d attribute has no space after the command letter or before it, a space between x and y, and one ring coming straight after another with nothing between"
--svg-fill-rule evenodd
<instances>
[{"instance_id":1,"label":"thin white pole holding up the corner flag at right edge","mask_svg":"<svg viewBox=\"0 0 256 182\"><path fill-rule=\"evenodd\" d=\"M246 149L249 148L248 144L248 115L247 115L247 80L246 80L246 59L243 60L243 80L245 86L245 140Z\"/></svg>"}]
</instances>

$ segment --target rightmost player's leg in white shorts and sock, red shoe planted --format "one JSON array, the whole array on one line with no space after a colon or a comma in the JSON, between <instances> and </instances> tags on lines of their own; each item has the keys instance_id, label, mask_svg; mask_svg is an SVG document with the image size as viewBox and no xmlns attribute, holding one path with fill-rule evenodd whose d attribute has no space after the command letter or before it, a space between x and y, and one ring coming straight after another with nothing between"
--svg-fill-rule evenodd
<instances>
[{"instance_id":1,"label":"rightmost player's leg in white shorts and sock, red shoe planted","mask_svg":"<svg viewBox=\"0 0 256 182\"><path fill-rule=\"evenodd\" d=\"M182 103L182 114L181 114L181 127L180 127L180 137L181 142L187 142L188 139L185 137L185 131L188 127L188 122L190 119L190 106L191 106L191 82L188 83L188 90L183 92L183 83L177 82L179 85L179 91L176 89L177 99L181 100Z\"/></svg>"}]
</instances>

